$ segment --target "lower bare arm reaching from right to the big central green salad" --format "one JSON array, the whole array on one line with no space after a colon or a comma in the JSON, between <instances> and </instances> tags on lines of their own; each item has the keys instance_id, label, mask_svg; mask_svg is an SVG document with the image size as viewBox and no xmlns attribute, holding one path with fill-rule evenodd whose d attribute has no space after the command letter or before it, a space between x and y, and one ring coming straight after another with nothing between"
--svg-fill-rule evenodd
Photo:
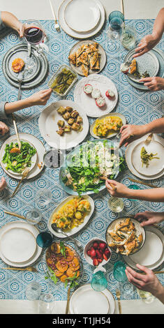
<instances>
[{"instance_id":1,"label":"lower bare arm reaching from right to the big central green salad","mask_svg":"<svg viewBox=\"0 0 164 328\"><path fill-rule=\"evenodd\" d=\"M114 184L116 190L114 190L112 186L110 186L110 184ZM110 179L106 180L105 185L107 191L113 197L124 197L134 200L147 200L148 202L164 202L164 188L135 190L130 189L124 186L124 184L120 184L119 182Z\"/></svg>"}]
</instances>

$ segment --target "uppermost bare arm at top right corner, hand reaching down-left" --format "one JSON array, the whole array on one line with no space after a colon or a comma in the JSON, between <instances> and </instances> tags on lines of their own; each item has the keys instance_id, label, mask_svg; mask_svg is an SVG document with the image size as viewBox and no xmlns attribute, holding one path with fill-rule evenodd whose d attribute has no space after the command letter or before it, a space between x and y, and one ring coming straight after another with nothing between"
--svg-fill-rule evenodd
<instances>
[{"instance_id":1,"label":"uppermost bare arm at top right corner, hand reaching down-left","mask_svg":"<svg viewBox=\"0 0 164 328\"><path fill-rule=\"evenodd\" d=\"M164 31L164 8L162 8L154 22L153 31L151 34L144 36L140 41L139 45L135 49L133 57L139 57L145 52L153 49L155 45L161 40Z\"/></svg>"}]
</instances>

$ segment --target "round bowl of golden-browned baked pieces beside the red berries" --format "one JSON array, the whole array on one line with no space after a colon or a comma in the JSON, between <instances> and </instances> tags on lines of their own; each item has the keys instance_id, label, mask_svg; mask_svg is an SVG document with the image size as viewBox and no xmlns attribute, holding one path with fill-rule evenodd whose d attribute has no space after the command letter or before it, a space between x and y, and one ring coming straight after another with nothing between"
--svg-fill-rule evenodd
<instances>
[{"instance_id":1,"label":"round bowl of golden-browned baked pieces beside the red berries","mask_svg":"<svg viewBox=\"0 0 164 328\"><path fill-rule=\"evenodd\" d=\"M114 228L109 227L107 229L107 234L110 235L110 241L107 242L108 246L114 248L114 251L121 255L135 253L143 241L142 233L138 233L131 218L117 220Z\"/></svg>"}]
</instances>

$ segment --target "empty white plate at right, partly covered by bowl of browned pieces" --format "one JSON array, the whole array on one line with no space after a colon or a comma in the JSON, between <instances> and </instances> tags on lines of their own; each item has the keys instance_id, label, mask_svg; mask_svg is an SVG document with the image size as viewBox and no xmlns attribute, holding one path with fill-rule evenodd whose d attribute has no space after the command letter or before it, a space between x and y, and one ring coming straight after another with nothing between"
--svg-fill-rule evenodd
<instances>
[{"instance_id":1,"label":"empty white plate at right, partly covered by bowl of browned pieces","mask_svg":"<svg viewBox=\"0 0 164 328\"><path fill-rule=\"evenodd\" d=\"M156 233L146 231L144 246L137 253L130 255L131 260L136 264L139 263L149 267L156 263L163 253L163 243Z\"/></svg>"}]
</instances>

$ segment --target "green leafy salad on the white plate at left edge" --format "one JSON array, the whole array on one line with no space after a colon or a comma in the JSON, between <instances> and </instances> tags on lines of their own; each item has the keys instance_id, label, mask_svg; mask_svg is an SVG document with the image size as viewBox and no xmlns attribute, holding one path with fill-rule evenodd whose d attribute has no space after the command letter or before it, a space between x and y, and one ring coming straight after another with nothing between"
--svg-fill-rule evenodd
<instances>
[{"instance_id":1,"label":"green leafy salad on the white plate at left edge","mask_svg":"<svg viewBox=\"0 0 164 328\"><path fill-rule=\"evenodd\" d=\"M6 170L22 173L25 167L31 167L31 158L35 154L36 149L29 142L21 141L21 149L17 142L11 142L11 144L6 144L2 163L6 164Z\"/></svg>"}]
</instances>

